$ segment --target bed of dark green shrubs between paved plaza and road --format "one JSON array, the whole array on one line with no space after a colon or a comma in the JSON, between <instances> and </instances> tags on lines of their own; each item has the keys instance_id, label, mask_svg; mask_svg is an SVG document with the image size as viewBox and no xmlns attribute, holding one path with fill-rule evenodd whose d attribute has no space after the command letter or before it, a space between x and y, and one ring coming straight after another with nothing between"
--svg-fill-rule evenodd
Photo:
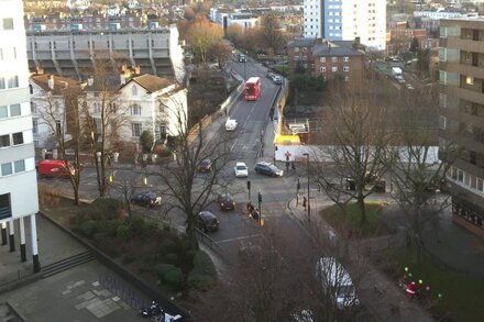
<instances>
[{"instance_id":1,"label":"bed of dark green shrubs between paved plaza and road","mask_svg":"<svg viewBox=\"0 0 484 322\"><path fill-rule=\"evenodd\" d=\"M40 187L43 213L146 285L156 285L158 291L167 296L187 299L190 291L207 290L216 281L213 263L206 253L190 249L186 235L143 216L141 209L130 218L123 202L113 198L98 198L90 204L76 207L72 200L57 197L55 190Z\"/></svg>"}]
</instances>

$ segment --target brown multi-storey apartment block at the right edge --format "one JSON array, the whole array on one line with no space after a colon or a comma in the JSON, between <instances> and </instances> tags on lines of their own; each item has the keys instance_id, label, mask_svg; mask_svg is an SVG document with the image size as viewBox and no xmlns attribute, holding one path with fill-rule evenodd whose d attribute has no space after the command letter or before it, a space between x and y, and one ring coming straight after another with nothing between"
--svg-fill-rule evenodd
<instances>
[{"instance_id":1,"label":"brown multi-storey apartment block at the right edge","mask_svg":"<svg viewBox=\"0 0 484 322\"><path fill-rule=\"evenodd\" d=\"M441 144L462 148L446 188L453 220L484 236L484 18L441 20L440 41Z\"/></svg>"}]
</instances>

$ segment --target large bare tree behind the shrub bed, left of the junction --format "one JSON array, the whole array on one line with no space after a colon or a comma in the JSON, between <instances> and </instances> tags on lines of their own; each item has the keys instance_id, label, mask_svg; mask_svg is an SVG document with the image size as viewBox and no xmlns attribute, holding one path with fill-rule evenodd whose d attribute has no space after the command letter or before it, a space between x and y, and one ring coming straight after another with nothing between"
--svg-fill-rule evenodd
<instances>
[{"instance_id":1,"label":"large bare tree behind the shrub bed, left of the junction","mask_svg":"<svg viewBox=\"0 0 484 322\"><path fill-rule=\"evenodd\" d=\"M164 187L163 195L166 203L186 215L186 232L191 247L196 249L196 215L213 201L217 188L226 185L220 175L229 162L228 140L219 134L209 137L201 123L189 130L184 89L178 95L163 99L160 104L176 121L176 126L167 131L175 142L174 162L163 166L158 174ZM207 158L211 160L211 169L199 174L198 167Z\"/></svg>"}]
</instances>

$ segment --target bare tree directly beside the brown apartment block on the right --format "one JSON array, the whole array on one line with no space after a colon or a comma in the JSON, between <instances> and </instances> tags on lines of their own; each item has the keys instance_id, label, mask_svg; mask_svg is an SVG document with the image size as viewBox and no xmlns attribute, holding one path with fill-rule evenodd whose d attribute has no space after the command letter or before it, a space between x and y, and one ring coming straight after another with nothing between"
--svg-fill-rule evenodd
<instances>
[{"instance_id":1,"label":"bare tree directly beside the brown apartment block on the right","mask_svg":"<svg viewBox=\"0 0 484 322\"><path fill-rule=\"evenodd\" d=\"M435 99L435 97L433 97ZM395 145L389 147L392 159L392 197L404 216L417 259L421 259L422 230L438 220L438 214L450 203L449 197L438 200L436 191L458 154L451 141L438 143L439 107L432 96L408 96L397 109ZM439 147L439 152L438 152ZM438 153L444 157L440 162Z\"/></svg>"}]
</instances>

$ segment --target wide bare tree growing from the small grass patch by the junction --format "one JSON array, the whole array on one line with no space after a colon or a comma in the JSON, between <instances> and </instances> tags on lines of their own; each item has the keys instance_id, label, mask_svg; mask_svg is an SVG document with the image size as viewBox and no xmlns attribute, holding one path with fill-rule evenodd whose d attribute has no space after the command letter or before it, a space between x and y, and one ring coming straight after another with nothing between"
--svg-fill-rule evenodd
<instances>
[{"instance_id":1,"label":"wide bare tree growing from the small grass patch by the junction","mask_svg":"<svg viewBox=\"0 0 484 322\"><path fill-rule=\"evenodd\" d=\"M373 193L375 186L369 189L369 179L377 182L389 169L386 146L391 142L389 125L385 102L380 96L358 93L336 95L321 133L326 144L315 151L311 158L318 160L324 156L331 164L330 170L318 173L315 180L327 190L355 199L361 211L361 223L366 222L365 199ZM316 173L316 171L315 171ZM353 180L354 189L334 185L334 178ZM353 186L352 184L352 186Z\"/></svg>"}]
</instances>

